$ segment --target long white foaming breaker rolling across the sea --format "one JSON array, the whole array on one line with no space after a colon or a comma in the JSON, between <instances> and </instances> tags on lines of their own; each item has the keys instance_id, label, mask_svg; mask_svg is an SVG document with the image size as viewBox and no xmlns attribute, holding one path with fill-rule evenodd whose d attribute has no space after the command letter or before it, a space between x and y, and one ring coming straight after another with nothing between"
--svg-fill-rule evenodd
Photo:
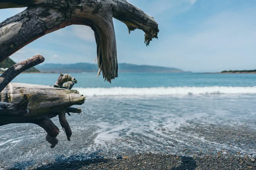
<instances>
[{"instance_id":1,"label":"long white foaming breaker rolling across the sea","mask_svg":"<svg viewBox=\"0 0 256 170\"><path fill-rule=\"evenodd\" d=\"M152 87L152 88L76 88L84 96L148 96L188 94L256 94L253 87Z\"/></svg>"}]
</instances>

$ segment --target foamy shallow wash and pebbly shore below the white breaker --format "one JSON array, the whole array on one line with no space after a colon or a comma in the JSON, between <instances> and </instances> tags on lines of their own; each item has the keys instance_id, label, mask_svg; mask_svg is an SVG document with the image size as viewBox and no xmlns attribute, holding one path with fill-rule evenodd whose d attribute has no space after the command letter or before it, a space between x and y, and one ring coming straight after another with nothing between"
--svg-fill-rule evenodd
<instances>
[{"instance_id":1,"label":"foamy shallow wash and pebbly shore below the white breaker","mask_svg":"<svg viewBox=\"0 0 256 170\"><path fill-rule=\"evenodd\" d=\"M82 108L86 115L67 117L71 141L60 129L53 149L37 125L2 126L0 170L256 170L254 97L243 96L232 105L229 98L217 97L208 96L201 113L194 105L202 97L182 99L184 103L159 99L176 107L173 115L148 100L138 99L136 106L137 101L126 99L133 106L128 113L119 106L99 107L101 99L87 101ZM109 102L122 104L119 98ZM178 114L179 108L186 114ZM52 121L61 127L58 118Z\"/></svg>"}]
</instances>

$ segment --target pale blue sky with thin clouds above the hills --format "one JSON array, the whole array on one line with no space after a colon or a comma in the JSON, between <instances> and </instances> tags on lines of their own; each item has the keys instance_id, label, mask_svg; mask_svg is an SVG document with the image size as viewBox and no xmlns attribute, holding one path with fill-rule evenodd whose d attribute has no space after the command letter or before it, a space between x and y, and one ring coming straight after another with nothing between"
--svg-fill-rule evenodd
<instances>
[{"instance_id":1,"label":"pale blue sky with thin clouds above the hills","mask_svg":"<svg viewBox=\"0 0 256 170\"><path fill-rule=\"evenodd\" d=\"M184 71L256 69L256 0L128 0L154 17L158 39L148 47L144 32L128 34L113 19L119 63L159 65ZM24 8L0 10L0 22ZM68 26L26 45L10 58L37 54L44 63L93 63L96 42L88 26Z\"/></svg>"}]
</instances>

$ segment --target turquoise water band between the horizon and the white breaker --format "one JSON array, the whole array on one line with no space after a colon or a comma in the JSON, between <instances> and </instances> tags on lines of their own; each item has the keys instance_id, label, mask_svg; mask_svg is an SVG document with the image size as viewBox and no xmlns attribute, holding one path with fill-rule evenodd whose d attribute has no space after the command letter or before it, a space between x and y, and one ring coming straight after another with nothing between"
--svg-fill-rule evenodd
<instances>
[{"instance_id":1,"label":"turquoise water band between the horizon and the white breaker","mask_svg":"<svg viewBox=\"0 0 256 170\"><path fill-rule=\"evenodd\" d=\"M59 74L20 74L12 82L23 82L41 85L53 85ZM82 88L110 87L204 87L204 86L255 86L256 74L148 74L148 73L119 73L112 84L104 82L96 73L71 73Z\"/></svg>"}]
</instances>

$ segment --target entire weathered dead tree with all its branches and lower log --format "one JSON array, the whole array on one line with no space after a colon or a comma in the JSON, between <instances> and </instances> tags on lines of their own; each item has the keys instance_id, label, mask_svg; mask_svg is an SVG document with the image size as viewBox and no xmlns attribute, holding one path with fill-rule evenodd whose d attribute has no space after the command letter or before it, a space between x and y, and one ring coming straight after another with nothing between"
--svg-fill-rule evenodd
<instances>
[{"instance_id":1,"label":"entire weathered dead tree with all its branches and lower log","mask_svg":"<svg viewBox=\"0 0 256 170\"><path fill-rule=\"evenodd\" d=\"M149 45L153 38L157 38L159 32L153 17L126 0L0 0L0 9L19 7L27 8L0 23L0 62L45 34L70 25L85 25L90 26L95 33L98 75L102 72L105 80L111 82L118 77L113 17L125 23L129 33L135 29L143 30L146 45ZM56 136L59 129L50 118L58 115L67 139L70 140L72 132L65 113L80 113L81 109L70 106L83 104L85 98L77 91L70 90L76 79L67 74L61 74L54 87L9 84L22 71L43 61L44 58L38 55L13 65L1 75L0 109L1 106L6 107L6 103L28 103L29 100L24 98L24 94L31 98L27 107L28 113L24 112L25 106L18 107L21 112L19 116L9 112L1 114L0 111L0 126L9 123L35 123L47 131L46 139L52 144L51 147L54 147L58 143Z\"/></svg>"}]
</instances>

